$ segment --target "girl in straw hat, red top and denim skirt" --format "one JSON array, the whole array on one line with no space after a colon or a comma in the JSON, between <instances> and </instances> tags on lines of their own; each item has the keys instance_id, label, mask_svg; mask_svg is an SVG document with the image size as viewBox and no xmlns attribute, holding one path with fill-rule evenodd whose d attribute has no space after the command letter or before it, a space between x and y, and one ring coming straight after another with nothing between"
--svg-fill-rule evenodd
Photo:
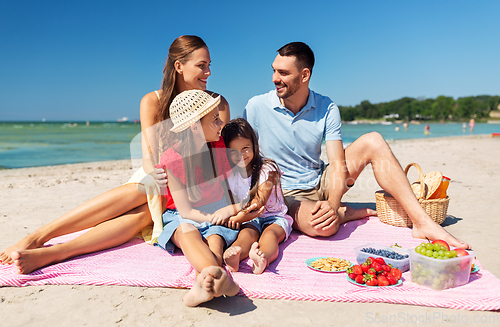
<instances>
[{"instance_id":1,"label":"girl in straw hat, red top and denim skirt","mask_svg":"<svg viewBox=\"0 0 500 327\"><path fill-rule=\"evenodd\" d=\"M220 137L219 102L220 96L213 98L201 90L175 97L170 106L173 126L167 128L167 150L160 159L168 175L166 197L174 207L169 205L164 212L164 228L157 241L167 251L179 247L197 272L195 285L184 297L188 306L233 296L239 290L222 268L224 248L238 231L222 226L237 208L227 205L224 192L230 166ZM240 216L248 219L248 215Z\"/></svg>"}]
</instances>

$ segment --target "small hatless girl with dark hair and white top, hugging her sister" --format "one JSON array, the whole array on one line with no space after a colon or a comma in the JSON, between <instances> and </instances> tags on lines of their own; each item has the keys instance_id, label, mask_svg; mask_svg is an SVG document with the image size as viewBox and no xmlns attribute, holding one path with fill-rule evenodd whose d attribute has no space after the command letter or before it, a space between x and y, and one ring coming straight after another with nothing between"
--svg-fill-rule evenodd
<instances>
[{"instance_id":1,"label":"small hatless girl with dark hair and white top, hugging her sister","mask_svg":"<svg viewBox=\"0 0 500 327\"><path fill-rule=\"evenodd\" d=\"M260 217L248 221L241 211L229 219L242 223L236 241L224 252L224 262L231 271L238 271L240 261L250 256L253 273L261 274L278 257L279 243L292 231L293 219L280 186L277 164L260 155L257 136L242 118L231 120L222 130L228 157L234 169L228 178L231 192L239 201L248 201L252 209L263 209ZM260 237L259 237L260 236Z\"/></svg>"}]
</instances>

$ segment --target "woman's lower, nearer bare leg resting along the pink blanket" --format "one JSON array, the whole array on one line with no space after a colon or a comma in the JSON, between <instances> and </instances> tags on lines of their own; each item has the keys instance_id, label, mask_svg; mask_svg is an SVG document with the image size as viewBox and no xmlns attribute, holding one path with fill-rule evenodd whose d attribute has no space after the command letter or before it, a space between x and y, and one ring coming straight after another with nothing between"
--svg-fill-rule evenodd
<instances>
[{"instance_id":1,"label":"woman's lower, nearer bare leg resting along the pink blanket","mask_svg":"<svg viewBox=\"0 0 500 327\"><path fill-rule=\"evenodd\" d=\"M126 214L98 224L88 232L62 244L36 249L13 251L12 258L18 272L28 274L49 264L68 258L121 245L132 239L144 227L151 225L147 204Z\"/></svg>"}]
</instances>

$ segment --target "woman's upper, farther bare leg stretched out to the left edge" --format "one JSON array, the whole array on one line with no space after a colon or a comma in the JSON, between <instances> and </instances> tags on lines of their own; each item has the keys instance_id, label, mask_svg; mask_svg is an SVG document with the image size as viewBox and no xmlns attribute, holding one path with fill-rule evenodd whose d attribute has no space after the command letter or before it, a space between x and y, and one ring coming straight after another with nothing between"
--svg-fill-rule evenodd
<instances>
[{"instance_id":1,"label":"woman's upper, farther bare leg stretched out to the left edge","mask_svg":"<svg viewBox=\"0 0 500 327\"><path fill-rule=\"evenodd\" d=\"M146 195L139 191L136 184L126 184L114 188L38 228L16 244L6 248L0 253L0 261L3 264L10 264L13 262L10 257L13 251L40 248L54 237L94 227L146 202Z\"/></svg>"}]
</instances>

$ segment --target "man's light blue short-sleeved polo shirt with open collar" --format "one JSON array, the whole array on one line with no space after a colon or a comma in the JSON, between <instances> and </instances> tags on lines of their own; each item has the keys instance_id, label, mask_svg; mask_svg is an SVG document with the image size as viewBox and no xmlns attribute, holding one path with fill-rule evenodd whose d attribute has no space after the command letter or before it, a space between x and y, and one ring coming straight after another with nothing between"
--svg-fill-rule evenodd
<instances>
[{"instance_id":1,"label":"man's light blue short-sleeved polo shirt with open collar","mask_svg":"<svg viewBox=\"0 0 500 327\"><path fill-rule=\"evenodd\" d=\"M323 140L342 140L340 112L330 98L309 90L307 104L297 115L285 108L276 90L251 98L243 111L259 137L264 157L284 172L283 189L311 189L321 177Z\"/></svg>"}]
</instances>

